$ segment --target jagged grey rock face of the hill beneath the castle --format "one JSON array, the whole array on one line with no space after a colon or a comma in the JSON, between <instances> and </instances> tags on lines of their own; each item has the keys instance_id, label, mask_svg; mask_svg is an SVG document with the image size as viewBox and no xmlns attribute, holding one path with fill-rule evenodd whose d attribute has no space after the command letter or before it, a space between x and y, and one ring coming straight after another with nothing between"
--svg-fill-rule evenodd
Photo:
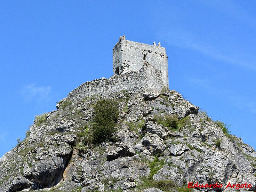
<instances>
[{"instance_id":1,"label":"jagged grey rock face of the hill beneath the castle","mask_svg":"<svg viewBox=\"0 0 256 192\"><path fill-rule=\"evenodd\" d=\"M33 124L30 135L0 159L0 191L164 191L154 182L141 188L145 178L172 180L177 187L218 182L223 184L218 190L225 192L236 190L225 189L229 182L247 182L256 190L255 150L240 138L223 134L175 91L117 93L117 141L85 144L81 133L92 129L93 104L99 99L59 104L44 122ZM179 126L164 123L167 116L175 117Z\"/></svg>"}]
</instances>

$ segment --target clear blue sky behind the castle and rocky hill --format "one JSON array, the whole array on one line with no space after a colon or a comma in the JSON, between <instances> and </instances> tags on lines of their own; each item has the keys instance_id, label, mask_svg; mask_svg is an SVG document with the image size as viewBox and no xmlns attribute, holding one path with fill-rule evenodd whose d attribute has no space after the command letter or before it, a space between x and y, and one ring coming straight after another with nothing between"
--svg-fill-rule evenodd
<instances>
[{"instance_id":1,"label":"clear blue sky behind the castle and rocky hill","mask_svg":"<svg viewBox=\"0 0 256 192\"><path fill-rule=\"evenodd\" d=\"M256 148L256 1L1 1L0 156L34 116L112 76L119 36L166 48L170 89Z\"/></svg>"}]
</instances>

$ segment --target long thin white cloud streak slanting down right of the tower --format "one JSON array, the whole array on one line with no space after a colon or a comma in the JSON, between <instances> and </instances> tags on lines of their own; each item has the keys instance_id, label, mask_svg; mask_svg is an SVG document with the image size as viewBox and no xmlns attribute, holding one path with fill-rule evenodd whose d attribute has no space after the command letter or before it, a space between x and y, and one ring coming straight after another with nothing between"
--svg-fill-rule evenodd
<instances>
[{"instance_id":1,"label":"long thin white cloud streak slanting down right of the tower","mask_svg":"<svg viewBox=\"0 0 256 192\"><path fill-rule=\"evenodd\" d=\"M240 52L240 50L236 50L234 45L211 44L202 41L202 37L190 34L184 30L170 29L163 31L164 32L158 32L158 38L166 40L166 42L171 45L189 48L193 51L200 52L211 58L224 61L226 63L256 70L255 54ZM239 54L237 54L238 52Z\"/></svg>"}]
</instances>

